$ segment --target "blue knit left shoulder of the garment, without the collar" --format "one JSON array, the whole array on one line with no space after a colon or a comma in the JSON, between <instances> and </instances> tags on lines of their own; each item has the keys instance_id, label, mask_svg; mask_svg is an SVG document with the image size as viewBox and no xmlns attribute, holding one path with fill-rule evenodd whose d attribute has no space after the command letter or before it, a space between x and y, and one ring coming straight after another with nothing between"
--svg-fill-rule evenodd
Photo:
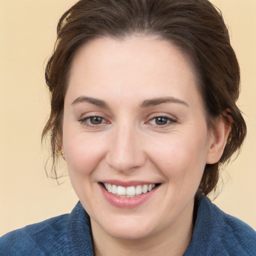
<instances>
[{"instance_id":1,"label":"blue knit left shoulder of the garment, without the collar","mask_svg":"<svg viewBox=\"0 0 256 256\"><path fill-rule=\"evenodd\" d=\"M69 214L11 231L0 238L0 255L50 255L66 246Z\"/></svg>"}]
</instances>

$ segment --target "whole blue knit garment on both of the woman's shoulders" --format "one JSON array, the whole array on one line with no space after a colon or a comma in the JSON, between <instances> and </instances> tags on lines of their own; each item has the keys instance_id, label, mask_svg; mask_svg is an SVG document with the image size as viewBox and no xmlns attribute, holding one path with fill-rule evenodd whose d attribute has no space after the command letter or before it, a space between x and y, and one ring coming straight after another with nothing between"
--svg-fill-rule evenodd
<instances>
[{"instance_id":1,"label":"whole blue knit garment on both of the woman's shoulders","mask_svg":"<svg viewBox=\"0 0 256 256\"><path fill-rule=\"evenodd\" d=\"M256 232L199 196L192 239L184 256L255 256ZM70 214L11 231L0 238L0 255L93 255L89 216L80 202ZM118 253L117 253L118 254Z\"/></svg>"}]
</instances>

